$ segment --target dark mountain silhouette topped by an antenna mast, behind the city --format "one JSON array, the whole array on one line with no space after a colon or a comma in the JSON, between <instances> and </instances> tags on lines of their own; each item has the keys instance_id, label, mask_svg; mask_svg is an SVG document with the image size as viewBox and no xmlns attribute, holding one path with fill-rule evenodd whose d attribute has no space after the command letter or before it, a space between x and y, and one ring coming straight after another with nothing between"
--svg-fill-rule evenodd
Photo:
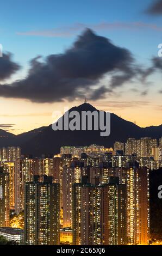
<instances>
[{"instance_id":1,"label":"dark mountain silhouette topped by an antenna mast, behind the city","mask_svg":"<svg viewBox=\"0 0 162 256\"><path fill-rule=\"evenodd\" d=\"M69 112L77 111L98 111L89 103L83 103L78 107L72 107ZM99 111L98 111L99 112ZM105 112L104 112L105 114ZM90 144L104 145L112 147L115 141L126 142L129 137L141 138L152 137L159 139L162 136L162 125L139 127L138 125L124 120L117 115L111 113L111 132L108 137L101 137L101 131L53 131L52 125L40 127L20 135L13 135L5 132L8 137L1 138L0 130L0 147L8 145L20 145L23 154L33 154L40 156L41 154L57 154L61 146L83 146ZM64 117L64 115L63 115Z\"/></svg>"}]
</instances>

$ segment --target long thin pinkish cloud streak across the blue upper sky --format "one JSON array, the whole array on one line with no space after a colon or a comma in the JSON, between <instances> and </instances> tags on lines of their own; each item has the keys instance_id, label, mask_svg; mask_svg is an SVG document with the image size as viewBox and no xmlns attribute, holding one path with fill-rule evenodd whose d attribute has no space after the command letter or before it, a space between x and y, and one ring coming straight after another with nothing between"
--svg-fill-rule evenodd
<instances>
[{"instance_id":1,"label":"long thin pinkish cloud streak across the blue upper sky","mask_svg":"<svg viewBox=\"0 0 162 256\"><path fill-rule=\"evenodd\" d=\"M129 30L139 30L148 29L152 31L162 32L162 27L151 23L144 22L102 22L98 24L85 24L76 23L72 26L65 26L47 30L38 31L26 31L17 32L17 35L30 35L30 36L47 36L47 37L68 37L77 34L85 28L91 28L95 31L109 31L113 29L129 29Z\"/></svg>"}]
</instances>

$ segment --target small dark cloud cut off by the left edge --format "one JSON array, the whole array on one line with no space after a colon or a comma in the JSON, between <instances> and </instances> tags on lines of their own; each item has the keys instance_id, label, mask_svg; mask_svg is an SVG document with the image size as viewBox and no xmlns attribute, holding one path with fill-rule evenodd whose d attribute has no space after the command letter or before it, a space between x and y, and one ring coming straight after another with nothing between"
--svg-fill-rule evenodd
<instances>
[{"instance_id":1,"label":"small dark cloud cut off by the left edge","mask_svg":"<svg viewBox=\"0 0 162 256\"><path fill-rule=\"evenodd\" d=\"M3 54L0 58L0 81L13 75L20 66L11 60L11 53Z\"/></svg>"}]
</instances>

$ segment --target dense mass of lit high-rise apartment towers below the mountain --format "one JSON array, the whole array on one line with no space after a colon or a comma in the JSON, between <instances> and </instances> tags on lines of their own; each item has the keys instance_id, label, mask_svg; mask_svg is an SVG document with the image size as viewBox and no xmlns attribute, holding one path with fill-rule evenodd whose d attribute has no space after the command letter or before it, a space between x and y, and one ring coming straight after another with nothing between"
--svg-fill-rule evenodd
<instances>
[{"instance_id":1,"label":"dense mass of lit high-rise apartment towers below the mountain","mask_svg":"<svg viewBox=\"0 0 162 256\"><path fill-rule=\"evenodd\" d=\"M24 245L152 243L149 174L162 167L161 149L161 138L61 147L41 158L23 156L18 147L0 149L0 234Z\"/></svg>"}]
</instances>

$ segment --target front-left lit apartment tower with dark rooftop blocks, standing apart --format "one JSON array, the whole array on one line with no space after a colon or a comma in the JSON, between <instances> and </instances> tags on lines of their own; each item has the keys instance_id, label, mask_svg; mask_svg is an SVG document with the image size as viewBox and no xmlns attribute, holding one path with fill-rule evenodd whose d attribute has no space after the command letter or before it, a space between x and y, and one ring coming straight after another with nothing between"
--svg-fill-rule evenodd
<instances>
[{"instance_id":1,"label":"front-left lit apartment tower with dark rooftop blocks, standing apart","mask_svg":"<svg viewBox=\"0 0 162 256\"><path fill-rule=\"evenodd\" d=\"M27 182L24 194L24 243L27 245L59 245L60 188L52 176L34 176Z\"/></svg>"}]
</instances>

